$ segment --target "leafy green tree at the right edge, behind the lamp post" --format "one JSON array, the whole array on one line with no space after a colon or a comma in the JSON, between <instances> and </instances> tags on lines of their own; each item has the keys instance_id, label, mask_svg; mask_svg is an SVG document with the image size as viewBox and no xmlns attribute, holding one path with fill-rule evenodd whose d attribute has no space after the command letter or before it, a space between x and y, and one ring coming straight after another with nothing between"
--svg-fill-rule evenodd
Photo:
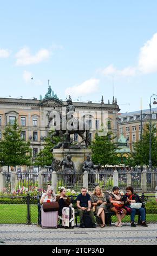
<instances>
[{"instance_id":1,"label":"leafy green tree at the right edge, behind the lamp post","mask_svg":"<svg viewBox=\"0 0 157 256\"><path fill-rule=\"evenodd\" d=\"M156 138L156 126L151 124L151 159L152 166L157 166L157 138ZM143 131L142 139L135 142L133 148L133 161L135 165L146 165L149 164L149 124L146 124L146 129Z\"/></svg>"}]
</instances>

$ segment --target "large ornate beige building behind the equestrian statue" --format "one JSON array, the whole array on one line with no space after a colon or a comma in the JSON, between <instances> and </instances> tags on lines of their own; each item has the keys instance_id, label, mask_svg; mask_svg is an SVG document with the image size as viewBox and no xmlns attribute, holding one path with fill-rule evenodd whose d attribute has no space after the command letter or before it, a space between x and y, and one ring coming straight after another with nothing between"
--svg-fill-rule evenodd
<instances>
[{"instance_id":1,"label":"large ornate beige building behind the equestrian statue","mask_svg":"<svg viewBox=\"0 0 157 256\"><path fill-rule=\"evenodd\" d=\"M94 112L105 111L108 113L108 128L114 135L117 135L117 121L118 113L120 111L116 100L113 99L112 104L104 103L103 96L101 103L93 102L73 102L75 111ZM21 136L25 141L30 141L33 155L37 154L44 146L44 137L48 136L48 132L51 129L49 124L49 113L54 109L61 109L66 107L67 102L58 99L54 92L51 94L51 88L49 86L48 93L45 94L44 99L10 99L0 98L0 139L3 139L3 131L5 126L10 122L14 123L15 119L18 125L21 127ZM90 118L89 118L90 119ZM92 120L95 130L99 130L102 122L102 115L97 115L97 119ZM91 122L89 120L89 126ZM55 127L54 127L55 129ZM95 132L90 132L91 139L95 137ZM80 141L78 136L73 136L74 141Z\"/></svg>"}]
</instances>

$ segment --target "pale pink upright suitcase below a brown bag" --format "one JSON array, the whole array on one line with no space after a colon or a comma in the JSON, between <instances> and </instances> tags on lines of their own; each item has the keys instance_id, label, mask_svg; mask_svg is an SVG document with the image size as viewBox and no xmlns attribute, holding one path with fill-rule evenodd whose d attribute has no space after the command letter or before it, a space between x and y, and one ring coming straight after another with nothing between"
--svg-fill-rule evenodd
<instances>
[{"instance_id":1,"label":"pale pink upright suitcase below a brown bag","mask_svg":"<svg viewBox=\"0 0 157 256\"><path fill-rule=\"evenodd\" d=\"M43 211L41 210L41 227L42 228L57 228L58 225L58 211Z\"/></svg>"}]
</instances>

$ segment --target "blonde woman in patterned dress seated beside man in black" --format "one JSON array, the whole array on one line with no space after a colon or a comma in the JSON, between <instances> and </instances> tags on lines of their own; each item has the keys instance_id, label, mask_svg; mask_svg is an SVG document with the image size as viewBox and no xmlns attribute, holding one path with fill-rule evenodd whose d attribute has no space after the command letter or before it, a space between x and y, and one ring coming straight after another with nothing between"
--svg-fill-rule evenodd
<instances>
[{"instance_id":1,"label":"blonde woman in patterned dress seated beside man in black","mask_svg":"<svg viewBox=\"0 0 157 256\"><path fill-rule=\"evenodd\" d=\"M91 195L91 205L95 208L96 220L101 219L101 228L105 227L106 196L102 193L101 187L96 187Z\"/></svg>"}]
</instances>

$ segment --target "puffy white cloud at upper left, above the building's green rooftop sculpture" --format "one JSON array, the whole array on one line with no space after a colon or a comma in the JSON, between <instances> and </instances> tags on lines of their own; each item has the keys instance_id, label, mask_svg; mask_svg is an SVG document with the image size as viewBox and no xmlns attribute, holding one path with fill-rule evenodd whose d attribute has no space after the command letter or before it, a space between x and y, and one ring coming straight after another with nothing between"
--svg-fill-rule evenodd
<instances>
[{"instance_id":1,"label":"puffy white cloud at upper left, above the building's green rooftop sculpture","mask_svg":"<svg viewBox=\"0 0 157 256\"><path fill-rule=\"evenodd\" d=\"M43 62L50 57L51 52L47 49L41 49L34 56L30 54L28 47L24 47L16 53L16 65L25 66Z\"/></svg>"}]
</instances>

